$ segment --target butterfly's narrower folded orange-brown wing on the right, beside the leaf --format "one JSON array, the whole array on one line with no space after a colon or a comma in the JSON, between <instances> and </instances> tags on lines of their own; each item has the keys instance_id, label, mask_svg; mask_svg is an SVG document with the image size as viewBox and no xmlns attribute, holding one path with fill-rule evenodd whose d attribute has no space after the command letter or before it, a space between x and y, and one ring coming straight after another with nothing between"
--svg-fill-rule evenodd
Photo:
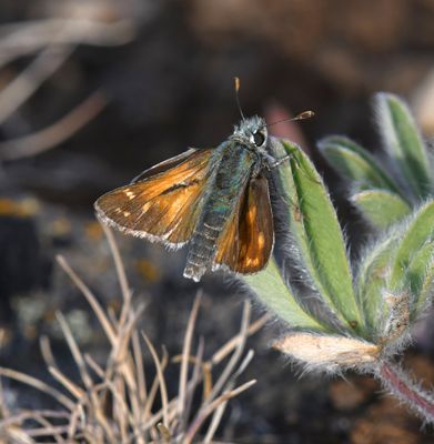
<instances>
[{"instance_id":1,"label":"butterfly's narrower folded orange-brown wing on the right, beside the leaf","mask_svg":"<svg viewBox=\"0 0 434 444\"><path fill-rule=\"evenodd\" d=\"M269 262L273 244L269 184L265 178L252 179L219 238L214 262L236 273L255 273Z\"/></svg>"}]
</instances>

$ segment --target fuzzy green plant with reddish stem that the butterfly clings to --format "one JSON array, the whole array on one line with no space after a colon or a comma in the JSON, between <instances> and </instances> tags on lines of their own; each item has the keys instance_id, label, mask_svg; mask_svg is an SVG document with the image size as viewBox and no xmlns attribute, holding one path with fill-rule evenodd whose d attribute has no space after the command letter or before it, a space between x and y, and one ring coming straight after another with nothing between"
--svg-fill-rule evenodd
<instances>
[{"instance_id":1,"label":"fuzzy green plant with reddish stem that the butterfly clings to","mask_svg":"<svg viewBox=\"0 0 434 444\"><path fill-rule=\"evenodd\" d=\"M275 140L273 149L276 158L291 154L276 174L291 262L281 271L272 260L243 281L290 329L275 347L310 371L371 373L434 422L434 398L395 362L431 304L434 201L408 211L351 264L336 213L311 161L290 142ZM366 178L374 175L373 165L370 173L366 167ZM380 169L375 174L379 181L383 176Z\"/></svg>"}]
</instances>

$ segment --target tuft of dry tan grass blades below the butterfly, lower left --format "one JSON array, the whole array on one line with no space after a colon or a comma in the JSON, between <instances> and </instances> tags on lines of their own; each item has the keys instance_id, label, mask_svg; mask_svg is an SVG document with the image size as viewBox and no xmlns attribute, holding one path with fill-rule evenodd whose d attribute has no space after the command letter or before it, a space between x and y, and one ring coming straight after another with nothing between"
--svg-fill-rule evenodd
<instances>
[{"instance_id":1,"label":"tuft of dry tan grass blades below the butterfly, lower left","mask_svg":"<svg viewBox=\"0 0 434 444\"><path fill-rule=\"evenodd\" d=\"M14 371L0 369L0 375L16 379L51 394L67 406L68 411L62 412L67 417L59 416L59 420L54 420L49 412L43 411L34 411L28 416L23 415L23 411L10 415L7 408L3 408L4 414L9 416L0 422L0 433L3 430L9 441L13 436L12 442L26 444L44 440L53 440L58 443L91 442L92 444L189 443L196 438L204 423L212 415L210 425L203 432L205 442L211 442L221 423L228 401L253 384L250 382L233 390L236 379L253 355L250 352L244 360L242 359L246 336L255 332L263 321L256 321L249 326L250 305L245 304L240 334L229 341L216 354L214 353L212 357L214 361L203 363L203 339L199 341L196 354L192 355L193 332L201 300L198 295L185 329L182 354L178 360L181 363L178 395L169 396L168 393L164 371L169 356L165 350L163 349L161 357L158 356L154 345L143 334L157 373L148 389L138 330L138 319L143 311L143 305L133 306L121 258L114 240L110 238L111 233L108 236L123 294L123 306L119 319L112 316L110 321L83 281L63 258L58 258L59 264L88 300L105 332L110 352L104 364L98 364L90 354L81 353L65 319L58 314L58 321L81 381L75 383L60 371L47 339L41 340L41 349L49 372L64 390L72 394L73 398L67 397L58 390L31 376ZM225 356L230 356L229 362L213 385L212 374L216 373L213 362L220 362L219 360ZM190 372L190 363L194 364L192 372ZM208 396L202 400L201 405L194 406L193 396L201 383ZM161 406L160 402L157 402L159 391ZM192 412L193 406L196 408L195 412ZM32 427L28 425L26 417L33 420ZM22 433L14 433L14 428L22 430Z\"/></svg>"}]
</instances>

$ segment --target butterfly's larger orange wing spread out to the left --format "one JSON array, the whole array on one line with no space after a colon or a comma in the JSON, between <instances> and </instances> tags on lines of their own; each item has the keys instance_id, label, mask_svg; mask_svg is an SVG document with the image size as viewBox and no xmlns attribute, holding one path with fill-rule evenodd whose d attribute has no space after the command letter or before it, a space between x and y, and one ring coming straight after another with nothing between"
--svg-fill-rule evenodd
<instances>
[{"instance_id":1,"label":"butterfly's larger orange wing spread out to the left","mask_svg":"<svg viewBox=\"0 0 434 444\"><path fill-rule=\"evenodd\" d=\"M189 150L148 170L158 173L98 199L97 215L128 234L182 246L200 214L212 151Z\"/></svg>"}]
</instances>

